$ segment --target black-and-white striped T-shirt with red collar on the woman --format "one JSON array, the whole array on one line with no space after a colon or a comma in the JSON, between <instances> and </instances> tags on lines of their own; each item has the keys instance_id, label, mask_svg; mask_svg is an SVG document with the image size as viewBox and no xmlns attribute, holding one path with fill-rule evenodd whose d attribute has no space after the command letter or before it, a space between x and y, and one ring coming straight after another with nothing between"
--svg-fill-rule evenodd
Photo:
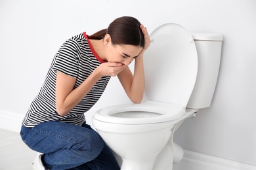
<instances>
[{"instance_id":1,"label":"black-and-white striped T-shirt with red collar on the woman","mask_svg":"<svg viewBox=\"0 0 256 170\"><path fill-rule=\"evenodd\" d=\"M76 78L77 88L91 73L104 62L96 54L89 42L89 36L81 33L64 42L53 58L51 67L41 90L32 101L30 109L22 120L25 127L34 127L42 122L58 121L81 126L85 122L84 113L95 105L104 92L110 76L103 76L89 93L66 116L56 112L55 84L56 71Z\"/></svg>"}]
</instances>

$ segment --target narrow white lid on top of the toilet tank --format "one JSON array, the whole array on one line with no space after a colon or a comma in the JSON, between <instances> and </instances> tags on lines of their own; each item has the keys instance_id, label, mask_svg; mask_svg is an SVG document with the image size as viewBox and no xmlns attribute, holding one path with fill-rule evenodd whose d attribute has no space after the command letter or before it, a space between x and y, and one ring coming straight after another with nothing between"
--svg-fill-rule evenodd
<instances>
[{"instance_id":1,"label":"narrow white lid on top of the toilet tank","mask_svg":"<svg viewBox=\"0 0 256 170\"><path fill-rule=\"evenodd\" d=\"M191 33L191 35L195 41L223 41L223 35L220 33Z\"/></svg>"}]
</instances>

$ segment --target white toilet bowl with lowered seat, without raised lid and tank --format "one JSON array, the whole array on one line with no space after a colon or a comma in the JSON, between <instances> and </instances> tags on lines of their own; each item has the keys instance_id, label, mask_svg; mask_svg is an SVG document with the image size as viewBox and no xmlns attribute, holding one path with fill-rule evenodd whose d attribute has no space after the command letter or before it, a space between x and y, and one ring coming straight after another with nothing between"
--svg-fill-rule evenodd
<instances>
[{"instance_id":1,"label":"white toilet bowl with lowered seat, without raised lid and tank","mask_svg":"<svg viewBox=\"0 0 256 170\"><path fill-rule=\"evenodd\" d=\"M156 156L167 145L175 129L194 112L196 109L144 101L98 110L93 126L108 146L121 156L122 169L152 169L154 164L161 164L155 162ZM182 150L176 153L176 159L180 160Z\"/></svg>"}]
</instances>

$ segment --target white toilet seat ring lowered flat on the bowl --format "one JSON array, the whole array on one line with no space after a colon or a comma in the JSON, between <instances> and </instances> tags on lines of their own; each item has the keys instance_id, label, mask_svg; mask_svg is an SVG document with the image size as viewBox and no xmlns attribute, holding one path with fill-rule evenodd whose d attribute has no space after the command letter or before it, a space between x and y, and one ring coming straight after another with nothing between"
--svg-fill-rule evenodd
<instances>
[{"instance_id":1,"label":"white toilet seat ring lowered flat on the bowl","mask_svg":"<svg viewBox=\"0 0 256 170\"><path fill-rule=\"evenodd\" d=\"M100 109L94 118L112 124L157 124L175 120L185 113L186 110L178 105L144 101Z\"/></svg>"}]
</instances>

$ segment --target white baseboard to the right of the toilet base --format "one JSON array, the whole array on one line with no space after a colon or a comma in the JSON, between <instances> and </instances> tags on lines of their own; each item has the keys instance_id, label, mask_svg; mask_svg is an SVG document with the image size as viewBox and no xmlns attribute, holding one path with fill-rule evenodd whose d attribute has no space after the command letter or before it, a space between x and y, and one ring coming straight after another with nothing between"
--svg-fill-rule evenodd
<instances>
[{"instance_id":1,"label":"white baseboard to the right of the toilet base","mask_svg":"<svg viewBox=\"0 0 256 170\"><path fill-rule=\"evenodd\" d=\"M184 157L173 170L256 170L256 166L184 150Z\"/></svg>"}]
</instances>

